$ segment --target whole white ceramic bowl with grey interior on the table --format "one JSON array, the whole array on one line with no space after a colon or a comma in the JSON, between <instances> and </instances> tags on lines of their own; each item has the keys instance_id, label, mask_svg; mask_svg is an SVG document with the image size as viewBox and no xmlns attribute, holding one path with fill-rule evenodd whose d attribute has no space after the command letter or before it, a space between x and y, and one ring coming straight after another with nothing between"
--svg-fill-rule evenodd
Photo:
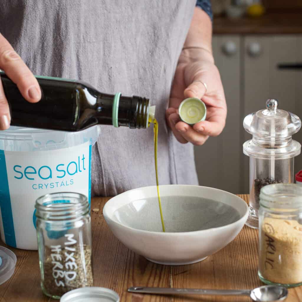
<instances>
[{"instance_id":1,"label":"whole white ceramic bowl with grey interior on the table","mask_svg":"<svg viewBox=\"0 0 302 302\"><path fill-rule=\"evenodd\" d=\"M248 206L238 196L194 185L159 186L166 232L162 232L156 186L111 198L104 218L114 235L148 260L184 265L204 260L243 228Z\"/></svg>"}]
</instances>

